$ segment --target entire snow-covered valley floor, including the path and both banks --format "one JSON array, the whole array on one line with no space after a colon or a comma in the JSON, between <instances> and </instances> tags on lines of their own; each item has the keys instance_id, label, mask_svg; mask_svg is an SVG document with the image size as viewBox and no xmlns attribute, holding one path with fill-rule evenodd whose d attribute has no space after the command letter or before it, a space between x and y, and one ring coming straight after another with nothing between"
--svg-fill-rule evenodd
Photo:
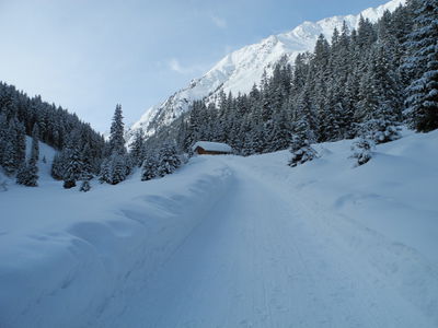
<instances>
[{"instance_id":1,"label":"entire snow-covered valley floor, including the path and both banks","mask_svg":"<svg viewBox=\"0 0 438 328\"><path fill-rule=\"evenodd\" d=\"M436 327L438 131L0 191L0 327Z\"/></svg>"}]
</instances>

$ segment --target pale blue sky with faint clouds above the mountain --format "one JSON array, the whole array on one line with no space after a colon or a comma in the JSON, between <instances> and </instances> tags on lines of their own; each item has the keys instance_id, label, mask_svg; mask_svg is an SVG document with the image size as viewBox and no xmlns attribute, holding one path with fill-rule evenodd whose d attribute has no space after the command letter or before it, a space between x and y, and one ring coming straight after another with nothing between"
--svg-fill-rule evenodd
<instances>
[{"instance_id":1,"label":"pale blue sky with faint clouds above the mountain","mask_svg":"<svg viewBox=\"0 0 438 328\"><path fill-rule=\"evenodd\" d=\"M0 81L108 130L201 77L224 55L303 21L385 0L0 0Z\"/></svg>"}]
</instances>

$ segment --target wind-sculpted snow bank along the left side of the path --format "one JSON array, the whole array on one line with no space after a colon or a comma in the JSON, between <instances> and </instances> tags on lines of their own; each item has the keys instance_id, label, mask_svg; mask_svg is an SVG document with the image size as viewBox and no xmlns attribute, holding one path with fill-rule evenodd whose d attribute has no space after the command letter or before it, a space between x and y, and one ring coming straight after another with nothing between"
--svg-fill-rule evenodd
<instances>
[{"instance_id":1,"label":"wind-sculpted snow bank along the left side of the path","mask_svg":"<svg viewBox=\"0 0 438 328\"><path fill-rule=\"evenodd\" d=\"M162 179L0 195L0 327L84 327L160 267L220 200L231 173L195 159Z\"/></svg>"}]
</instances>

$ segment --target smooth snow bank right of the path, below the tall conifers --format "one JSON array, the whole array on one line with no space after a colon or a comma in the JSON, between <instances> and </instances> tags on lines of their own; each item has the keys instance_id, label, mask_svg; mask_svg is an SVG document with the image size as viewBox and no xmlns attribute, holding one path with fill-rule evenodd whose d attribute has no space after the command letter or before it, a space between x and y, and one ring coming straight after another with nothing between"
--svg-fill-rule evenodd
<instances>
[{"instance_id":1,"label":"smooth snow bank right of the path, below the tall conifers","mask_svg":"<svg viewBox=\"0 0 438 328\"><path fill-rule=\"evenodd\" d=\"M373 159L354 167L353 140L315 144L321 159L290 168L288 151L230 161L252 167L266 183L287 186L309 207L324 207L413 245L438 262L438 131L380 144Z\"/></svg>"}]
</instances>

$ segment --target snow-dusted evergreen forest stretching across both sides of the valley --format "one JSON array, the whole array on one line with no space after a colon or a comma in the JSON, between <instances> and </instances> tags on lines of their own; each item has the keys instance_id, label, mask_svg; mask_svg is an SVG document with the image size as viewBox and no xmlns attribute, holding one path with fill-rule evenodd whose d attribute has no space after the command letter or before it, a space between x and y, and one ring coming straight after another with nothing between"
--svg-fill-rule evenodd
<instances>
[{"instance_id":1,"label":"snow-dusted evergreen forest stretching across both sides of the valley","mask_svg":"<svg viewBox=\"0 0 438 328\"><path fill-rule=\"evenodd\" d=\"M438 128L436 0L408 0L377 23L361 17L357 30L344 24L293 65L280 60L249 94L195 101L153 136L135 131L129 144L120 105L105 141L74 114L0 84L0 166L25 186L37 186L38 141L58 151L53 177L88 191L93 177L116 185L135 167L143 180L170 174L199 140L226 142L244 156L290 149L296 166L319 156L312 143L359 138L353 156L361 165L374 144L399 139L402 126Z\"/></svg>"}]
</instances>

